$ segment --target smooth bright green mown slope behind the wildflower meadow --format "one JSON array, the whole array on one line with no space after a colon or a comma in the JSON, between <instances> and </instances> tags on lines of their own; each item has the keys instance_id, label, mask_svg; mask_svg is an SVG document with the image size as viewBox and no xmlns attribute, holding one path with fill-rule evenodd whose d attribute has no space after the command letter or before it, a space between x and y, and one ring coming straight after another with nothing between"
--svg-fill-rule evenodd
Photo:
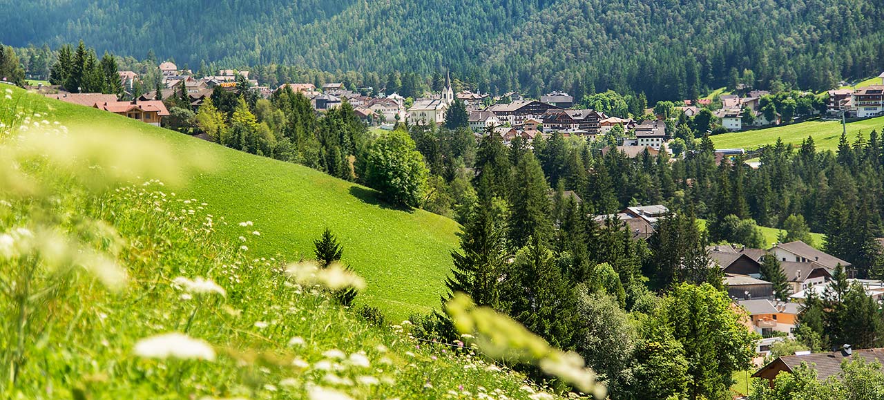
<instances>
[{"instance_id":1,"label":"smooth bright green mown slope behind the wildflower meadow","mask_svg":"<svg viewBox=\"0 0 884 400\"><path fill-rule=\"evenodd\" d=\"M344 247L342 261L368 284L357 304L377 306L396 318L440 306L452 265L449 252L459 246L455 234L460 227L452 219L395 209L377 201L369 188L308 167L228 149L109 112L38 95L24 96L23 101L33 103L31 108L38 112L50 108L53 118L68 127L158 137L169 143L176 158L208 156L210 169L183 171L190 178L177 195L209 204L217 229L236 246L240 235L246 236L245 244L255 258L313 258L312 241L329 227ZM226 225L218 223L221 217ZM254 226L240 227L243 221ZM260 236L248 234L253 230Z\"/></svg>"}]
</instances>

